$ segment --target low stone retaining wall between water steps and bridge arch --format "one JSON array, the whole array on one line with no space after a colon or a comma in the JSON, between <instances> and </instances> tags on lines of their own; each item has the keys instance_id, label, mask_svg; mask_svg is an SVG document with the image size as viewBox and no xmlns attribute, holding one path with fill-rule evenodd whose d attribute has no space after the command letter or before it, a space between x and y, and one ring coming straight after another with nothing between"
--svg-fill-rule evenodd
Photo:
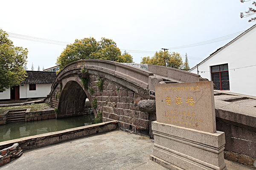
<instances>
[{"instance_id":1,"label":"low stone retaining wall between water steps and bridge arch","mask_svg":"<svg viewBox=\"0 0 256 170\"><path fill-rule=\"evenodd\" d=\"M53 109L47 111L32 111L26 113L25 122L32 122L37 120L55 119L55 112Z\"/></svg>"}]
</instances>

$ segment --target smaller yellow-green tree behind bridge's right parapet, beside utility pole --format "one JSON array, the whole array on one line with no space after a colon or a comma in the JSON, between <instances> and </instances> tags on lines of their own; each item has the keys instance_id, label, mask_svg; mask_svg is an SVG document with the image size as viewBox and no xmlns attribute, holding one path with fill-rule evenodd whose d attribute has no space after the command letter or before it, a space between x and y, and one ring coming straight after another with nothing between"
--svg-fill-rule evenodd
<instances>
[{"instance_id":1,"label":"smaller yellow-green tree behind bridge's right parapet, beside utility pole","mask_svg":"<svg viewBox=\"0 0 256 170\"><path fill-rule=\"evenodd\" d=\"M177 69L183 68L183 61L180 54L175 52L170 54L168 51L156 52L153 57L143 57L140 63L162 65Z\"/></svg>"}]
</instances>

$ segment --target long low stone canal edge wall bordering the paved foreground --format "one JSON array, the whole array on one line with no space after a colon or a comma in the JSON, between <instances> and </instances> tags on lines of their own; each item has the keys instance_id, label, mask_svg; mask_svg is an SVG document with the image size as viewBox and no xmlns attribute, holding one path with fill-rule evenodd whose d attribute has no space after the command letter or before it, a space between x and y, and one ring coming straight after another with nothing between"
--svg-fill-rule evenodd
<instances>
[{"instance_id":1,"label":"long low stone canal edge wall bordering the paved foreground","mask_svg":"<svg viewBox=\"0 0 256 170\"><path fill-rule=\"evenodd\" d=\"M59 142L77 139L97 133L104 133L118 128L116 121L109 121L98 123L94 125L87 125L75 127L71 129L61 130L57 132L44 133L41 135L28 136L20 139L13 139L9 141L0 142L0 150L11 147L13 144L18 143L22 150L29 150L38 147L56 144Z\"/></svg>"}]
</instances>

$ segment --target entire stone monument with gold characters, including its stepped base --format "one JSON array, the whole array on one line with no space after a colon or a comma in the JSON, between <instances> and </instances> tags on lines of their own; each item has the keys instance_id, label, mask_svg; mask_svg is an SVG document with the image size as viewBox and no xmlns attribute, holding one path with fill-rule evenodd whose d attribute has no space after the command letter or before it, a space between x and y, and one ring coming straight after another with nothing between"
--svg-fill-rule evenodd
<instances>
[{"instance_id":1,"label":"entire stone monument with gold characters, including its stepped base","mask_svg":"<svg viewBox=\"0 0 256 170\"><path fill-rule=\"evenodd\" d=\"M226 170L224 132L216 131L213 83L155 86L152 161L170 170Z\"/></svg>"}]
</instances>

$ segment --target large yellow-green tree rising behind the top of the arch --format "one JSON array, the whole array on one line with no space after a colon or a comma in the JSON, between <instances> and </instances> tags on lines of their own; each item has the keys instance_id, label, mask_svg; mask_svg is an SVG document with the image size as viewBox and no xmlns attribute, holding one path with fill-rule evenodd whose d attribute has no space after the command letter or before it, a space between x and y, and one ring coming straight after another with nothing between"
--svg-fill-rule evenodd
<instances>
[{"instance_id":1,"label":"large yellow-green tree rising behind the top of the arch","mask_svg":"<svg viewBox=\"0 0 256 170\"><path fill-rule=\"evenodd\" d=\"M106 59L116 62L133 62L130 54L121 54L116 42L111 39L101 38L96 41L93 37L75 40L73 44L67 45L57 58L56 64L60 69L70 62L80 59Z\"/></svg>"}]
</instances>

